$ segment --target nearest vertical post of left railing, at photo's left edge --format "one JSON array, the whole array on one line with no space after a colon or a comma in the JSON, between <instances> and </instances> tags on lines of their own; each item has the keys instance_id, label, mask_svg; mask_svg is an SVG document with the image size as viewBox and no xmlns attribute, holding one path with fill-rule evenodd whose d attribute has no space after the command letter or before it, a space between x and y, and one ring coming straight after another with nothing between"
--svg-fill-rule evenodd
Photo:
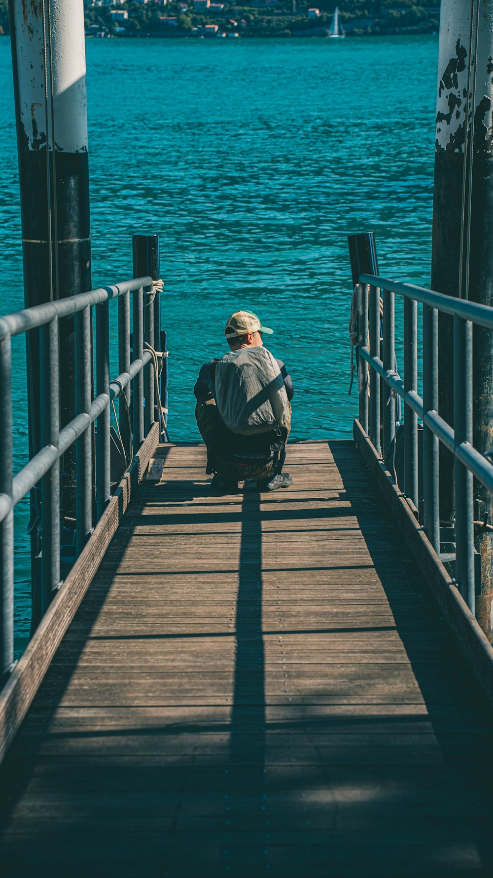
<instances>
[{"instance_id":1,"label":"nearest vertical post of left railing, at photo's left edge","mask_svg":"<svg viewBox=\"0 0 493 878\"><path fill-rule=\"evenodd\" d=\"M12 502L11 336L0 341L0 495ZM0 522L0 680L14 659L14 514Z\"/></svg>"}]
</instances>

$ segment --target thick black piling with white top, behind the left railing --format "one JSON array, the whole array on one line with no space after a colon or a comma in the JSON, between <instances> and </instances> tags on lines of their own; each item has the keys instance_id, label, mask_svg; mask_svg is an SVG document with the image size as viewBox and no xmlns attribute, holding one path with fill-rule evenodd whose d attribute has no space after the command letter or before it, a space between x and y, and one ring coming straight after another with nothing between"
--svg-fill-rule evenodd
<instances>
[{"instance_id":1,"label":"thick black piling with white top, behind the left railing","mask_svg":"<svg viewBox=\"0 0 493 878\"><path fill-rule=\"evenodd\" d=\"M82 0L9 0L25 306L91 288L89 159ZM39 330L26 337L29 450L41 447ZM75 413L74 320L61 321L61 421ZM75 450L63 461L62 504L75 516ZM40 514L39 487L31 495ZM32 559L37 554L32 528ZM42 547L44 552L44 548ZM33 569L33 608L39 582ZM37 612L34 612L36 620Z\"/></svg>"}]
</instances>

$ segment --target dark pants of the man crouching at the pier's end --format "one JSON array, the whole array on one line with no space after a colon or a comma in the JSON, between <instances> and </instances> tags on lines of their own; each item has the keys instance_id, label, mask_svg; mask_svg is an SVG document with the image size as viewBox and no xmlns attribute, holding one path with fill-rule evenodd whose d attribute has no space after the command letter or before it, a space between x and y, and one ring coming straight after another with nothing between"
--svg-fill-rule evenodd
<instances>
[{"instance_id":1,"label":"dark pants of the man crouching at the pier's end","mask_svg":"<svg viewBox=\"0 0 493 878\"><path fill-rule=\"evenodd\" d=\"M285 423L287 435L282 447L276 450L272 457L268 457L268 452L264 451L266 443L262 443L261 436L254 436L249 442L248 437L236 435L225 428L218 413L216 400L211 394L197 402L195 416L196 426L207 449L207 472L218 472L219 475L233 482L241 482L245 479L271 479L276 472L281 472L286 457L285 443L288 441L291 428L290 406ZM221 437L219 442L218 436ZM241 457L241 450L246 451L249 457ZM239 455L240 463L235 461L235 454Z\"/></svg>"}]
</instances>

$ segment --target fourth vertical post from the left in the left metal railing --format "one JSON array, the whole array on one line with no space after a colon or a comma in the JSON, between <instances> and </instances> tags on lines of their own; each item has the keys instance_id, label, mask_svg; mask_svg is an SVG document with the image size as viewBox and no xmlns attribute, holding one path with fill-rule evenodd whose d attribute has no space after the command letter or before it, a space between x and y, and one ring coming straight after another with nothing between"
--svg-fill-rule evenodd
<instances>
[{"instance_id":1,"label":"fourth vertical post from the left in the left metal railing","mask_svg":"<svg viewBox=\"0 0 493 878\"><path fill-rule=\"evenodd\" d=\"M108 405L96 420L96 516L99 519L111 496L109 299L96 306L96 393L108 396Z\"/></svg>"}]
</instances>

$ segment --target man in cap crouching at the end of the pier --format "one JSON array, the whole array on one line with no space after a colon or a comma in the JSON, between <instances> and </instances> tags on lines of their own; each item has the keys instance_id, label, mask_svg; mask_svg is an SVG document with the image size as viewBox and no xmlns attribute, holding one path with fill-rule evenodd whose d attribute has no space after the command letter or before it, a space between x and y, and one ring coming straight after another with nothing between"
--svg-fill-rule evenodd
<instances>
[{"instance_id":1,"label":"man in cap crouching at the end of the pier","mask_svg":"<svg viewBox=\"0 0 493 878\"><path fill-rule=\"evenodd\" d=\"M250 311L237 311L226 323L231 352L202 366L194 392L196 423L207 448L211 486L221 492L257 479L261 491L292 485L282 472L291 428L293 383L282 360L263 347L262 327Z\"/></svg>"}]
</instances>

